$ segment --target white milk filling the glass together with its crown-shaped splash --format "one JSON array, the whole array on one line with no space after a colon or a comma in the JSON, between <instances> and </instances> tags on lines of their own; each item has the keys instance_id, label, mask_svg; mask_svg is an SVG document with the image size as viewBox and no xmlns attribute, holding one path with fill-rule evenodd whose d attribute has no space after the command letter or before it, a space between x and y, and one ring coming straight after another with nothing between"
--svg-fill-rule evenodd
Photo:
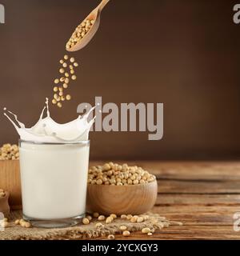
<instances>
[{"instance_id":1,"label":"white milk filling the glass together with its crown-shaped splash","mask_svg":"<svg viewBox=\"0 0 240 256\"><path fill-rule=\"evenodd\" d=\"M46 118L43 114L46 110ZM90 112L94 110L91 109ZM12 120L21 138L22 206L26 219L56 220L82 217L86 209L90 114L58 124L50 118L48 99L38 122L26 128Z\"/></svg>"}]
</instances>

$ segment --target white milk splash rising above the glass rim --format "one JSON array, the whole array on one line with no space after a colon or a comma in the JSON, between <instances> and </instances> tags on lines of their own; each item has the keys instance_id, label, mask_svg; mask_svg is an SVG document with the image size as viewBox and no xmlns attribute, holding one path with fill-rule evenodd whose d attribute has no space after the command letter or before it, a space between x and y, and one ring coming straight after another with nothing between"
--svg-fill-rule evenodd
<instances>
[{"instance_id":1,"label":"white milk splash rising above the glass rim","mask_svg":"<svg viewBox=\"0 0 240 256\"><path fill-rule=\"evenodd\" d=\"M46 98L46 106L44 106L38 122L31 128L26 128L22 122L19 122L18 116L4 108L9 114L13 115L14 120L10 118L6 112L4 115L10 120L17 130L20 138L28 142L46 142L46 143L67 143L67 142L82 142L89 138L90 128L94 123L95 118L88 122L90 113L95 109L95 106L88 113L71 122L59 124L50 117L48 106L48 98ZM46 118L43 118L46 112Z\"/></svg>"}]
</instances>

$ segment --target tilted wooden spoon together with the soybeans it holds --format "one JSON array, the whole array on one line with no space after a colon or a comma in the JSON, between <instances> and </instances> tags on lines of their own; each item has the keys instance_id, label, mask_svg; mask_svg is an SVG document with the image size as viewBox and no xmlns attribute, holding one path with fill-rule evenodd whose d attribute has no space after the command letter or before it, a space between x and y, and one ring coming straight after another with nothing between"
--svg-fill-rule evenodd
<instances>
[{"instance_id":1,"label":"tilted wooden spoon together with the soybeans it holds","mask_svg":"<svg viewBox=\"0 0 240 256\"><path fill-rule=\"evenodd\" d=\"M100 25L102 9L110 0L102 0L84 21L74 30L69 41L66 43L66 50L77 51L85 47L96 34Z\"/></svg>"}]
</instances>

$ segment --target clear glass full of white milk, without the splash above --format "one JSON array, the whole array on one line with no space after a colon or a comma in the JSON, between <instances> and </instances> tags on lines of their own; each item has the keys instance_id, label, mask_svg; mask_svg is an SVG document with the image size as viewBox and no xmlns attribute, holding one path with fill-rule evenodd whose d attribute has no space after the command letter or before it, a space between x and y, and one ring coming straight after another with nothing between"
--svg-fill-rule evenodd
<instances>
[{"instance_id":1,"label":"clear glass full of white milk, without the splash above","mask_svg":"<svg viewBox=\"0 0 240 256\"><path fill-rule=\"evenodd\" d=\"M19 141L23 218L33 226L78 224L86 213L90 141Z\"/></svg>"}]
</instances>

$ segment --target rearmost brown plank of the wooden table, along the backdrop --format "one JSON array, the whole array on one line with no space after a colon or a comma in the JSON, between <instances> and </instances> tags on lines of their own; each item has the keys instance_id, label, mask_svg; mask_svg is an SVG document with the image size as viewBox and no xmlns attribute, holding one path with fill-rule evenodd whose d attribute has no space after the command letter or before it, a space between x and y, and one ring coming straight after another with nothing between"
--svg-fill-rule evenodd
<instances>
[{"instance_id":1,"label":"rearmost brown plank of the wooden table, along the backdrop","mask_svg":"<svg viewBox=\"0 0 240 256\"><path fill-rule=\"evenodd\" d=\"M116 161L124 163L126 161ZM91 166L104 162L90 162ZM239 162L212 161L128 161L129 166L141 166L157 178L190 181L240 180Z\"/></svg>"}]
</instances>

